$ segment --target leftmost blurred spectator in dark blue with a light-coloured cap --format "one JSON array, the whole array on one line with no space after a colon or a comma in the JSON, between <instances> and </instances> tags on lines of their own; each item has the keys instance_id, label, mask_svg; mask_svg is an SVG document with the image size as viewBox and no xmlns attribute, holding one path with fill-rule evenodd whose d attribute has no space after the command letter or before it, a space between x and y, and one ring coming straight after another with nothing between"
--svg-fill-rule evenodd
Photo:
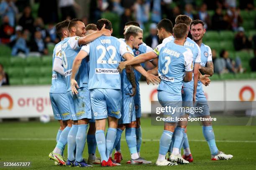
<instances>
[{"instance_id":1,"label":"leftmost blurred spectator in dark blue with a light-coloured cap","mask_svg":"<svg viewBox=\"0 0 256 170\"><path fill-rule=\"evenodd\" d=\"M28 56L29 48L27 47L27 35L23 32L20 25L15 28L16 34L11 37L13 44L11 55L15 56L22 53L21 56ZM20 55L20 54L19 54Z\"/></svg>"}]
</instances>

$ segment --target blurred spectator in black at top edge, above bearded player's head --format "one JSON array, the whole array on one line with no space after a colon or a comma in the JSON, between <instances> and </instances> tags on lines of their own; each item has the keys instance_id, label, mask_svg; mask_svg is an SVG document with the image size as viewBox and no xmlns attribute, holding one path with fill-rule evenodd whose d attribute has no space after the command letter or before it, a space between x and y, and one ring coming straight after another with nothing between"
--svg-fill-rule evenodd
<instances>
[{"instance_id":1,"label":"blurred spectator in black at top edge, above bearded player's head","mask_svg":"<svg viewBox=\"0 0 256 170\"><path fill-rule=\"evenodd\" d=\"M74 0L59 0L59 8L61 10L61 19L66 20L76 18L75 7L79 8L79 5Z\"/></svg>"}]
</instances>

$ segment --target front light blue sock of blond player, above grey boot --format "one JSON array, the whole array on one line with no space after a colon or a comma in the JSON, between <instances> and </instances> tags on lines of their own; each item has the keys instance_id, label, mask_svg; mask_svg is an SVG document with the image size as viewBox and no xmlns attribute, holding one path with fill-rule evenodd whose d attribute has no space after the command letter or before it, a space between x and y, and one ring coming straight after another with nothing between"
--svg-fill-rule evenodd
<instances>
[{"instance_id":1,"label":"front light blue sock of blond player, above grey boot","mask_svg":"<svg viewBox=\"0 0 256 170\"><path fill-rule=\"evenodd\" d=\"M137 153L135 128L125 128L125 139L130 153Z\"/></svg>"}]
</instances>

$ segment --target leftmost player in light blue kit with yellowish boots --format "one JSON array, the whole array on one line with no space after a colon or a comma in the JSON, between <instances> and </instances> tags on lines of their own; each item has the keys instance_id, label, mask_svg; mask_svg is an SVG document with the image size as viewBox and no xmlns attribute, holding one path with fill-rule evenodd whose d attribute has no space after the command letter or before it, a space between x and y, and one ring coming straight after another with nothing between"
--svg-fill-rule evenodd
<instances>
[{"instance_id":1,"label":"leftmost player in light blue kit with yellowish boots","mask_svg":"<svg viewBox=\"0 0 256 170\"><path fill-rule=\"evenodd\" d=\"M64 20L56 25L56 33L61 41L68 37L69 20ZM59 120L60 128L56 137L57 145L49 154L51 160L61 165L65 164L63 150L67 145L67 135L72 126L70 120L69 103L66 94L66 81L64 68L61 59L61 42L55 45L53 51L53 71L50 88L51 106L54 112L54 119Z\"/></svg>"}]
</instances>

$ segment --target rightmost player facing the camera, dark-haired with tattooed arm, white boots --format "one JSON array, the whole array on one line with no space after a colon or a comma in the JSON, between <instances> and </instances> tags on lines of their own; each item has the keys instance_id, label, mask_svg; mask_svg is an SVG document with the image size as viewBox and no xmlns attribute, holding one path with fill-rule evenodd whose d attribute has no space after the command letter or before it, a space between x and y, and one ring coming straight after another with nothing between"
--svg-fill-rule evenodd
<instances>
[{"instance_id":1,"label":"rightmost player facing the camera, dark-haired with tattooed arm, white boots","mask_svg":"<svg viewBox=\"0 0 256 170\"><path fill-rule=\"evenodd\" d=\"M201 20L194 20L191 23L191 35L192 39L197 43L201 49L201 65L200 72L207 75L213 75L213 62L212 62L212 51L209 46L202 43L202 38L206 32L204 28L205 23ZM203 112L197 112L194 117L210 117L210 109L207 104L207 100L202 89L202 83L199 81L197 85L196 93L196 107L202 107ZM202 133L207 141L211 153L212 160L229 160L233 158L233 155L226 155L225 153L218 150L215 143L215 135L212 129L211 121L202 121ZM184 144L188 143L188 139L185 138ZM186 145L183 144L183 148L186 149Z\"/></svg>"}]
</instances>

